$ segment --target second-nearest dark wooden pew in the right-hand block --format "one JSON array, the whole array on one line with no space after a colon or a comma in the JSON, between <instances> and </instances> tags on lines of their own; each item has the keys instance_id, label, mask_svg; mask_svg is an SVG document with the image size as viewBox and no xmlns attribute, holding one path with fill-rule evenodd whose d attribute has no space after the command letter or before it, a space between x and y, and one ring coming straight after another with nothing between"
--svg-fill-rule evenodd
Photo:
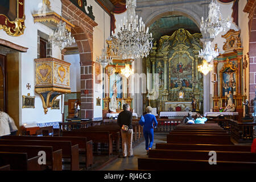
<instances>
[{"instance_id":1,"label":"second-nearest dark wooden pew in the right-hand block","mask_svg":"<svg viewBox=\"0 0 256 182\"><path fill-rule=\"evenodd\" d=\"M149 150L148 158L209 160L208 151L195 150ZM256 162L256 154L251 152L216 151L217 161Z\"/></svg>"}]
</instances>

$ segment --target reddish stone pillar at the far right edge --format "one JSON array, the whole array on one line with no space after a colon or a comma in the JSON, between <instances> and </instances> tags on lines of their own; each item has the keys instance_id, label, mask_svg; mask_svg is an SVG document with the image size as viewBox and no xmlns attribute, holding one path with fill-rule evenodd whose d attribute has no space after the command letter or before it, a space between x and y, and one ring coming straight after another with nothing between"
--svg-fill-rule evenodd
<instances>
[{"instance_id":1,"label":"reddish stone pillar at the far right edge","mask_svg":"<svg viewBox=\"0 0 256 182\"><path fill-rule=\"evenodd\" d=\"M249 100L253 100L256 89L256 1L248 0L243 11L249 13Z\"/></svg>"}]
</instances>

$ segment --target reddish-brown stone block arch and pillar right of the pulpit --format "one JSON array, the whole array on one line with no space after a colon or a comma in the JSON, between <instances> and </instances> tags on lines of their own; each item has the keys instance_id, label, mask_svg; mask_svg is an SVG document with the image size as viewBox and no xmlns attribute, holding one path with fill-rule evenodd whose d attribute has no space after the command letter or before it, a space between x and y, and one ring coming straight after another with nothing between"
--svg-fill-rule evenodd
<instances>
[{"instance_id":1,"label":"reddish-brown stone block arch and pillar right of the pulpit","mask_svg":"<svg viewBox=\"0 0 256 182\"><path fill-rule=\"evenodd\" d=\"M98 24L69 0L63 3L62 15L75 25L74 36L80 54L81 118L93 118L93 27Z\"/></svg>"}]
</instances>

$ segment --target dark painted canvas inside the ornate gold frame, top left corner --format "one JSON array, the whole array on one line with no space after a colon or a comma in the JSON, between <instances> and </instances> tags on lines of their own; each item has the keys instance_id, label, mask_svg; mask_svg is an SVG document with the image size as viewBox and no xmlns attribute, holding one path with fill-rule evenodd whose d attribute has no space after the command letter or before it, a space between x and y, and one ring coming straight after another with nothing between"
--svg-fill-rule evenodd
<instances>
[{"instance_id":1,"label":"dark painted canvas inside the ornate gold frame, top left corner","mask_svg":"<svg viewBox=\"0 0 256 182\"><path fill-rule=\"evenodd\" d=\"M1 0L0 14L6 15L10 21L17 18L17 3L18 0Z\"/></svg>"}]
</instances>

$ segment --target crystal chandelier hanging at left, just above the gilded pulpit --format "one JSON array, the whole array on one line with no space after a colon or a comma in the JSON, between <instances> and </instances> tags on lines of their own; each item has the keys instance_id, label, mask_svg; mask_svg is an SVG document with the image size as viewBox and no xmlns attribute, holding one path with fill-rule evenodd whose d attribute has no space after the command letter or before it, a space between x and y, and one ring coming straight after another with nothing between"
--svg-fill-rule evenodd
<instances>
[{"instance_id":1,"label":"crystal chandelier hanging at left, just above the gilded pulpit","mask_svg":"<svg viewBox=\"0 0 256 182\"><path fill-rule=\"evenodd\" d=\"M54 46L59 47L60 50L63 50L65 47L74 44L75 39L71 36L71 32L67 31L66 23L60 20L55 32L49 36L49 42L51 42Z\"/></svg>"}]
</instances>

